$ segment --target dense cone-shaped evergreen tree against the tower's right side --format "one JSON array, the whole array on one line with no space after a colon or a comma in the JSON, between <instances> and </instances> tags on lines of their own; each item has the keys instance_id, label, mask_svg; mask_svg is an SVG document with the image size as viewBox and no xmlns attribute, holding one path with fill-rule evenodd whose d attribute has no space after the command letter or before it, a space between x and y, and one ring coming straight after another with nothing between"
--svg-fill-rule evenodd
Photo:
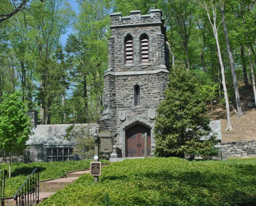
<instances>
[{"instance_id":1,"label":"dense cone-shaped evergreen tree against the tower's right side","mask_svg":"<svg viewBox=\"0 0 256 206\"><path fill-rule=\"evenodd\" d=\"M155 154L160 157L210 155L214 136L209 136L204 94L197 80L184 67L173 68L169 78L165 99L157 110ZM200 141L203 136L208 136L208 140Z\"/></svg>"}]
</instances>

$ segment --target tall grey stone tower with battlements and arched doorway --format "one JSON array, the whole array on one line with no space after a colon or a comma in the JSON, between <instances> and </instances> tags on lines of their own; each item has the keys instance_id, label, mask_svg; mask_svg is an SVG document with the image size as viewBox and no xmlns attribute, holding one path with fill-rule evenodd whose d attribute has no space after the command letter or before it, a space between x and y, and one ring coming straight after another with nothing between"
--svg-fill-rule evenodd
<instances>
[{"instance_id":1,"label":"tall grey stone tower with battlements and arched doorway","mask_svg":"<svg viewBox=\"0 0 256 206\"><path fill-rule=\"evenodd\" d=\"M155 147L156 109L164 98L169 75L162 11L150 14L131 11L130 16L113 13L108 42L108 70L104 74L102 129L116 132L111 157L143 157Z\"/></svg>"}]
</instances>

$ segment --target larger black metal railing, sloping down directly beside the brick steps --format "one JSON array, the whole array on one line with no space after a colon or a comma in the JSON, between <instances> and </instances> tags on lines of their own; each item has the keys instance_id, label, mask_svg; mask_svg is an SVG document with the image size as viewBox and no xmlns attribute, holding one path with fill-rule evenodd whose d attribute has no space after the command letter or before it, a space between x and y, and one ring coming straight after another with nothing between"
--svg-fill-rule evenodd
<instances>
[{"instance_id":1,"label":"larger black metal railing, sloping down directly beside the brick steps","mask_svg":"<svg viewBox=\"0 0 256 206\"><path fill-rule=\"evenodd\" d=\"M35 168L14 195L16 205L28 206L39 200L39 168Z\"/></svg>"}]
</instances>

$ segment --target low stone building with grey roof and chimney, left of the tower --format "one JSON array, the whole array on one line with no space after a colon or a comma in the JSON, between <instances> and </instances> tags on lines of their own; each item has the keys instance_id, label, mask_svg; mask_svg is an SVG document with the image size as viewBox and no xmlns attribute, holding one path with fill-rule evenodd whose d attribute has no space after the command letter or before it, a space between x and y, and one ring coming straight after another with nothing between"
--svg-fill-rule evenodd
<instances>
[{"instance_id":1,"label":"low stone building with grey roof and chimney, left of the tower","mask_svg":"<svg viewBox=\"0 0 256 206\"><path fill-rule=\"evenodd\" d=\"M80 157L73 153L76 141L65 139L66 129L70 126L75 128L88 128L92 133L98 128L98 124L59 124L59 125L37 125L37 114L35 110L29 110L33 134L29 135L26 142L28 146L24 152L24 162L54 162L79 160Z\"/></svg>"}]
</instances>

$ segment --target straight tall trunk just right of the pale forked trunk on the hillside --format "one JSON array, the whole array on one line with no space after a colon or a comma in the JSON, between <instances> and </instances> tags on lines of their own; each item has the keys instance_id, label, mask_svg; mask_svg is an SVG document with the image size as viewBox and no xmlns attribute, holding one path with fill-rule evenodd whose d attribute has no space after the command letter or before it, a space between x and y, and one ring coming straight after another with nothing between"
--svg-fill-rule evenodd
<instances>
[{"instance_id":1,"label":"straight tall trunk just right of the pale forked trunk on the hillside","mask_svg":"<svg viewBox=\"0 0 256 206\"><path fill-rule=\"evenodd\" d=\"M238 117L241 117L244 114L244 112L243 112L243 109L241 106L240 94L239 94L239 90L238 90L238 84L237 84L236 72L235 72L235 63L234 63L233 55L232 55L231 48L230 48L228 29L227 29L227 25L225 23L224 6L221 6L221 7L217 6L217 7L221 13L221 20L222 20L222 25L223 25L223 29L224 29L225 42L226 42L228 55L229 55L231 72L232 72L232 77L233 77L233 84L234 84L234 89L235 89L237 115L238 115Z\"/></svg>"}]
</instances>

